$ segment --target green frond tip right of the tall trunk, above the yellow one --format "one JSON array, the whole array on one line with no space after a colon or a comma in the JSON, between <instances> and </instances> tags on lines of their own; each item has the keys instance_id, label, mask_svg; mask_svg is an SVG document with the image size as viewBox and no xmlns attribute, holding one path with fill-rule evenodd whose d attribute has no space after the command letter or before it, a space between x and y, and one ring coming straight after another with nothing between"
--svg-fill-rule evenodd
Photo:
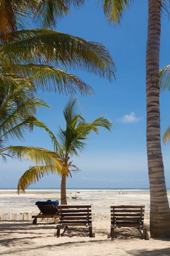
<instances>
[{"instance_id":1,"label":"green frond tip right of the tall trunk, above the yellow one","mask_svg":"<svg viewBox=\"0 0 170 256\"><path fill-rule=\"evenodd\" d=\"M159 86L161 91L170 90L170 65L159 70Z\"/></svg>"}]
</instances>

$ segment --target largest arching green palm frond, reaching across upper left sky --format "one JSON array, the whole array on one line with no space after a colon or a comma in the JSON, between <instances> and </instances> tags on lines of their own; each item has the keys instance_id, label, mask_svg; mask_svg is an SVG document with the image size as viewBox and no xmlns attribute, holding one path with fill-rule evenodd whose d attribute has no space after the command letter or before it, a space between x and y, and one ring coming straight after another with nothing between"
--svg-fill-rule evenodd
<instances>
[{"instance_id":1,"label":"largest arching green palm frond, reaching across upper left sky","mask_svg":"<svg viewBox=\"0 0 170 256\"><path fill-rule=\"evenodd\" d=\"M17 31L0 52L14 64L54 63L86 70L110 82L115 78L115 64L102 44L49 29Z\"/></svg>"}]
</instances>

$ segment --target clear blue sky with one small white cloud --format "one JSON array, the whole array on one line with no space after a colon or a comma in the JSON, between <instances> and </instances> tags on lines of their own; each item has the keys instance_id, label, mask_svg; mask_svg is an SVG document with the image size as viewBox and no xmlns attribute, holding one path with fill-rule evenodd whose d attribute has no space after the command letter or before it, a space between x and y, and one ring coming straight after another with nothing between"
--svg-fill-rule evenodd
<instances>
[{"instance_id":1,"label":"clear blue sky with one small white cloud","mask_svg":"<svg viewBox=\"0 0 170 256\"><path fill-rule=\"evenodd\" d=\"M86 188L148 188L146 155L146 96L145 96L145 52L147 41L147 0L127 10L121 26L114 28L105 20L101 4L89 1L80 10L72 10L56 30L82 37L88 41L104 44L115 61L116 81L110 84L93 74L72 71L90 84L96 95L79 96L83 115L89 121L104 114L113 120L110 133L101 129L99 135L91 134L88 146L74 163L82 172L67 181L67 187ZM169 41L170 22L162 19L160 68L170 64ZM53 108L40 109L37 117L55 133L58 125L65 127L62 109L67 96L58 93L39 95ZM161 134L170 125L167 112L170 107L170 93L162 93ZM38 128L28 134L25 142L15 145L32 145L53 150L48 134ZM170 188L170 145L163 145L165 176ZM31 163L8 160L1 165L0 187L17 187L17 180ZM59 187L60 177L50 175L31 187Z\"/></svg>"}]
</instances>

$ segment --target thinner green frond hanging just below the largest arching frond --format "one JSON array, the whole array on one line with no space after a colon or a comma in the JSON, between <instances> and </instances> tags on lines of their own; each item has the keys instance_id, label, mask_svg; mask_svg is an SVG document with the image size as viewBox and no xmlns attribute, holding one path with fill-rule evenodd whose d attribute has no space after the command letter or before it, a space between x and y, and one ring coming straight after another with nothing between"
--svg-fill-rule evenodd
<instances>
[{"instance_id":1,"label":"thinner green frond hanging just below the largest arching frond","mask_svg":"<svg viewBox=\"0 0 170 256\"><path fill-rule=\"evenodd\" d=\"M48 65L27 64L8 65L3 70L22 74L24 77L32 77L37 89L43 91L59 91L59 93L76 94L77 90L82 95L94 94L91 86L83 82L79 77Z\"/></svg>"}]
</instances>

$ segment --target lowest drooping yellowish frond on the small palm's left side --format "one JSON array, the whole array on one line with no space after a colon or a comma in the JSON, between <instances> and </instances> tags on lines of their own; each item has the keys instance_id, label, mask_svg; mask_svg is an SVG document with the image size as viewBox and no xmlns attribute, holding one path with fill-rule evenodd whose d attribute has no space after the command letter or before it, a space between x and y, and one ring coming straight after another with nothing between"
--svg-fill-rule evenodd
<instances>
[{"instance_id":1,"label":"lowest drooping yellowish frond on the small palm's left side","mask_svg":"<svg viewBox=\"0 0 170 256\"><path fill-rule=\"evenodd\" d=\"M61 174L55 166L31 166L18 180L17 192L25 192L31 184L35 184L42 177L49 174Z\"/></svg>"}]
</instances>

